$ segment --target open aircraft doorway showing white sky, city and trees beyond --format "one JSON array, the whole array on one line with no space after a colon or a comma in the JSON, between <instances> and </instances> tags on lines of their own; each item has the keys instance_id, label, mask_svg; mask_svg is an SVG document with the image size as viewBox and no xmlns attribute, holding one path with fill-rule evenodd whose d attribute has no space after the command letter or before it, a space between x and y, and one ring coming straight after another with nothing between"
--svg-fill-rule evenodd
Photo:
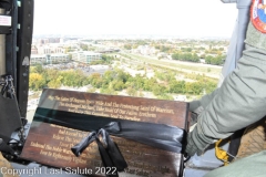
<instances>
[{"instance_id":1,"label":"open aircraft doorway showing white sky, city and trees beyond","mask_svg":"<svg viewBox=\"0 0 266 177\"><path fill-rule=\"evenodd\" d=\"M34 1L28 112L44 87L182 102L211 93L236 13L213 0Z\"/></svg>"}]
</instances>

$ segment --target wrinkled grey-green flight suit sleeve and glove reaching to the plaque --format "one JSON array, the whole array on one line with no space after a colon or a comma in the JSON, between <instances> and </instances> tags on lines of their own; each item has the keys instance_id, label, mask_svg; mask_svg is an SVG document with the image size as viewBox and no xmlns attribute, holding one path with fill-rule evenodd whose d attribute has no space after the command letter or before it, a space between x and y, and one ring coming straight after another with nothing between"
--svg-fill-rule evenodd
<instances>
[{"instance_id":1,"label":"wrinkled grey-green flight suit sleeve and glove reaching to the plaque","mask_svg":"<svg viewBox=\"0 0 266 177\"><path fill-rule=\"evenodd\" d=\"M194 155L266 115L266 34L248 25L246 50L212 102L198 115L186 152Z\"/></svg>"}]
</instances>

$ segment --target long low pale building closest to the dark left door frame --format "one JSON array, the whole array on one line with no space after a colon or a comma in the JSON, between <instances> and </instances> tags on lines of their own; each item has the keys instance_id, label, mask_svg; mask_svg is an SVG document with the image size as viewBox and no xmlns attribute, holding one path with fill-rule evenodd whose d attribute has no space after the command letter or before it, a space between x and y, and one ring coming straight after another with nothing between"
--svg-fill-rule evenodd
<instances>
[{"instance_id":1,"label":"long low pale building closest to the dark left door frame","mask_svg":"<svg viewBox=\"0 0 266 177\"><path fill-rule=\"evenodd\" d=\"M57 64L69 62L69 54L54 53L54 54L32 54L31 64Z\"/></svg>"}]
</instances>

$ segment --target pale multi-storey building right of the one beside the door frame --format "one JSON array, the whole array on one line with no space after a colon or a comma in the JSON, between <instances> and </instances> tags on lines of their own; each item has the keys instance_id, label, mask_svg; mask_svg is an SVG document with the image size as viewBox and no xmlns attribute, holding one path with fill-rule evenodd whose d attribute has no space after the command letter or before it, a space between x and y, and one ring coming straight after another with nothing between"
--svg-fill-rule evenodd
<instances>
[{"instance_id":1,"label":"pale multi-storey building right of the one beside the door frame","mask_svg":"<svg viewBox=\"0 0 266 177\"><path fill-rule=\"evenodd\" d=\"M91 63L93 61L102 60L102 53L94 53L90 51L70 52L72 60L81 63Z\"/></svg>"}]
</instances>

